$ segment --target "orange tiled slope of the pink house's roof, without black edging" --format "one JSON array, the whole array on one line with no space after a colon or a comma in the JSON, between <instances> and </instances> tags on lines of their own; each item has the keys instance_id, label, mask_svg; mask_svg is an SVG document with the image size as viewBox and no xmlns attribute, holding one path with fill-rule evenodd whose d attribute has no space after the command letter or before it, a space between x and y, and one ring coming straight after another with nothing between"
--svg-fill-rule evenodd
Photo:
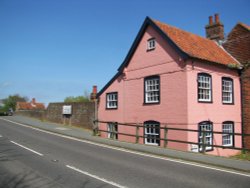
<instances>
[{"instance_id":1,"label":"orange tiled slope of the pink house's roof, without black edging","mask_svg":"<svg viewBox=\"0 0 250 188\"><path fill-rule=\"evenodd\" d=\"M153 21L183 52L190 57L222 65L239 65L231 55L229 55L215 41L206 39L178 29L176 27Z\"/></svg>"}]
</instances>

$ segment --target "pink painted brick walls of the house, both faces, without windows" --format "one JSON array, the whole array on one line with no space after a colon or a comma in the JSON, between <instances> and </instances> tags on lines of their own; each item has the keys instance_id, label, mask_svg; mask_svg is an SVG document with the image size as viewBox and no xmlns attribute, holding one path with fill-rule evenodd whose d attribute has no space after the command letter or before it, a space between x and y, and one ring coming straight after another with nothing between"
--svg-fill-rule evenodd
<instances>
[{"instance_id":1,"label":"pink painted brick walls of the house, both faces, without windows","mask_svg":"<svg viewBox=\"0 0 250 188\"><path fill-rule=\"evenodd\" d=\"M147 52L147 40L154 37L156 48ZM116 121L121 123L143 123L154 120L161 126L198 129L198 123L206 120L214 122L213 130L222 131L222 122L234 121L235 132L241 133L240 110L240 83L236 71L209 65L208 63L191 61L183 62L178 54L168 45L157 32L149 27L142 37L133 57L126 67L126 76L115 80L99 98L98 118L103 121ZM212 76L213 103L198 103L197 100L197 73L205 72ZM144 104L144 78L147 76L160 76L160 104ZM223 105L221 102L221 77L234 79L234 105ZM106 93L118 92L118 109L106 109ZM107 125L99 124L99 128L107 130ZM132 127L119 126L119 132L135 134ZM143 136L144 130L140 128L139 134ZM161 138L164 131L161 130ZM106 137L106 133L101 136ZM119 135L119 140L135 142L134 137ZM198 141L198 134L184 131L169 131L168 139L190 142ZM214 144L221 145L221 135L214 135ZM143 144L144 139L140 138ZM163 146L163 141L161 142ZM235 146L241 147L241 138L235 137ZM188 150L189 144L169 142L168 148ZM214 155L229 156L237 150L217 149L208 152Z\"/></svg>"}]
</instances>

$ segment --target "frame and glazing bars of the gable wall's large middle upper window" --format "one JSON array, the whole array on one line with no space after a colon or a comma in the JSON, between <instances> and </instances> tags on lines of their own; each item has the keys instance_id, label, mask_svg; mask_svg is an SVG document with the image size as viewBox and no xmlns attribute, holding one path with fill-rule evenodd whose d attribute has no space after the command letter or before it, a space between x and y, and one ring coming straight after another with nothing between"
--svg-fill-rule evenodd
<instances>
[{"instance_id":1,"label":"frame and glazing bars of the gable wall's large middle upper window","mask_svg":"<svg viewBox=\"0 0 250 188\"><path fill-rule=\"evenodd\" d=\"M147 91L147 81L148 80L155 80L155 79L158 79L158 82L159 82L159 88L158 88L158 101L148 101L148 93L149 92L154 92L154 91ZM155 97L155 96L152 96L152 97ZM144 104L145 105L153 105L153 104L160 104L160 99L161 99L161 79L160 79L160 76L158 75L154 75L154 76L148 76L148 77L145 77L144 78Z\"/></svg>"}]
</instances>

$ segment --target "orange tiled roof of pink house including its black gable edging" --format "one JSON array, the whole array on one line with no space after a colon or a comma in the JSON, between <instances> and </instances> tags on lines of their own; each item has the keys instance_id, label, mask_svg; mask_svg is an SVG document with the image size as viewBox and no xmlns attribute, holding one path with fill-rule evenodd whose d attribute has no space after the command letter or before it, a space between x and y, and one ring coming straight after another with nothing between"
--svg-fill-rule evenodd
<instances>
[{"instance_id":1,"label":"orange tiled roof of pink house including its black gable edging","mask_svg":"<svg viewBox=\"0 0 250 188\"><path fill-rule=\"evenodd\" d=\"M153 27L183 59L198 59L207 63L223 66L232 65L231 67L235 68L238 68L240 65L235 58L227 53L223 47L219 46L215 41L146 17L125 60L118 68L117 74L102 88L102 90L100 90L97 97L99 97L107 89L107 87L109 87L109 85L112 84L116 78L118 78L123 69L128 66L130 59L132 58L148 26Z\"/></svg>"}]
</instances>

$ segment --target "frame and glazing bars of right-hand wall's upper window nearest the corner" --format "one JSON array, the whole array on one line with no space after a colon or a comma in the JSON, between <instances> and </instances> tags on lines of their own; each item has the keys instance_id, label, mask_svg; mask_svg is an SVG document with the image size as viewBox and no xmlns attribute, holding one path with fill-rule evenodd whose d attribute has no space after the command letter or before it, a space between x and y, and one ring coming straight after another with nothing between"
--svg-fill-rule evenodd
<instances>
[{"instance_id":1,"label":"frame and glazing bars of right-hand wall's upper window nearest the corner","mask_svg":"<svg viewBox=\"0 0 250 188\"><path fill-rule=\"evenodd\" d=\"M203 77L207 77L210 79L210 88L206 89L206 88L200 88L199 86L199 77L203 76ZM204 82L203 82L204 83ZM200 98L200 91L201 90L208 90L209 91L209 99L201 99ZM213 85L212 85L212 76L208 73L198 73L197 74L197 99L199 103L212 103L213 102Z\"/></svg>"}]
</instances>

